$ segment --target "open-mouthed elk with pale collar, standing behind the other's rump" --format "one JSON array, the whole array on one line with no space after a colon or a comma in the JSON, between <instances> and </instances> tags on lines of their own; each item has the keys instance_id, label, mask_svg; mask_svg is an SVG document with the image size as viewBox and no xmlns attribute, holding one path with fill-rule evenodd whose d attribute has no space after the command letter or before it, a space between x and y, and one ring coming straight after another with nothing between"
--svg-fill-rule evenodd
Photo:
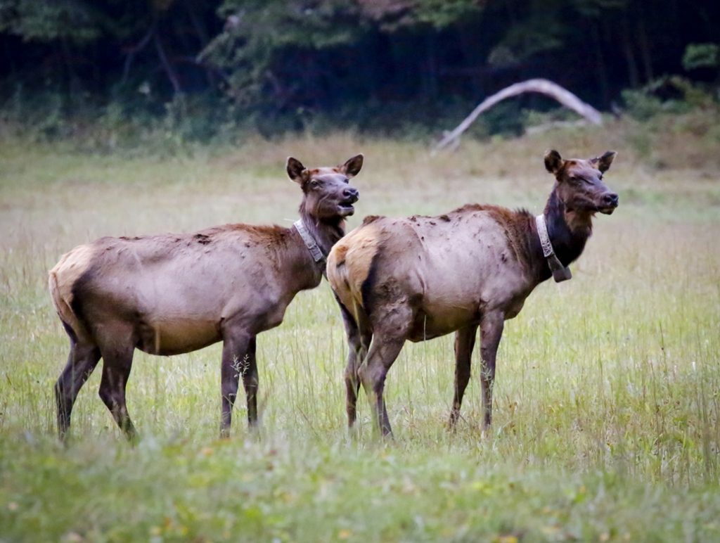
<instances>
[{"instance_id":1,"label":"open-mouthed elk with pale collar, standing behind the other's rump","mask_svg":"<svg viewBox=\"0 0 720 543\"><path fill-rule=\"evenodd\" d=\"M171 355L222 341L220 436L230 435L238 380L248 423L258 421L256 336L282 323L301 290L320 284L325 256L345 233L359 192L349 178L363 156L342 166L307 169L287 159L300 185L300 220L292 228L228 224L188 234L100 238L73 248L50 270L53 304L70 336L55 384L64 439L78 391L103 359L99 395L129 439L125 386L135 349Z\"/></svg>"}]
</instances>

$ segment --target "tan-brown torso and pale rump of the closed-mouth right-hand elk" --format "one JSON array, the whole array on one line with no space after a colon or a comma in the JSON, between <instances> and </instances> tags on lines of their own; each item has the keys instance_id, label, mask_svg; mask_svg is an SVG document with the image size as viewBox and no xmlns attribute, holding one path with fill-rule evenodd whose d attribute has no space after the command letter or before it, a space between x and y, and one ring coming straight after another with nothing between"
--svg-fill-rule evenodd
<instances>
[{"instance_id":1,"label":"tan-brown torso and pale rump of the closed-mouth right-hand elk","mask_svg":"<svg viewBox=\"0 0 720 543\"><path fill-rule=\"evenodd\" d=\"M362 307L362 285L374 263L382 269L377 290L414 308L410 341L479 323L490 311L511 318L535 286L534 270L506 235L503 211L468 206L440 217L378 218L331 251L328 280L347 285L336 289L343 305ZM462 281L459 270L469 271Z\"/></svg>"}]
</instances>

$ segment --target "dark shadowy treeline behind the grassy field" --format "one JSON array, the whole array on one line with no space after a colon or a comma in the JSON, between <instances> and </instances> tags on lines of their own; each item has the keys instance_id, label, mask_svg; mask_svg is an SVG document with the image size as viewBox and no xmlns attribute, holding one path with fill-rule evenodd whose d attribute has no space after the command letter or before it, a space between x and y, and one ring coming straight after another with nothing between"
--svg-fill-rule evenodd
<instances>
[{"instance_id":1,"label":"dark shadowy treeline behind the grassy field","mask_svg":"<svg viewBox=\"0 0 720 543\"><path fill-rule=\"evenodd\" d=\"M623 91L716 101L719 27L709 0L0 0L1 115L114 140L143 127L436 135L531 77L642 111ZM521 130L523 107L552 104L513 100L480 130Z\"/></svg>"}]
</instances>

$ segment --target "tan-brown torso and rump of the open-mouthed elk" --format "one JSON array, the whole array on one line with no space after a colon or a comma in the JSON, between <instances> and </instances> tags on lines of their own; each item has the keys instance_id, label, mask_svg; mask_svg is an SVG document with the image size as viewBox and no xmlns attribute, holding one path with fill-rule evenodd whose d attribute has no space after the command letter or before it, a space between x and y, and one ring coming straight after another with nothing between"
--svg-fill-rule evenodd
<instances>
[{"instance_id":1,"label":"tan-brown torso and rump of the open-mouthed elk","mask_svg":"<svg viewBox=\"0 0 720 543\"><path fill-rule=\"evenodd\" d=\"M50 270L50 290L78 336L114 326L138 349L169 355L220 341L228 323L253 334L278 326L321 278L294 229L238 224L78 246ZM78 287L86 325L71 309Z\"/></svg>"}]
</instances>

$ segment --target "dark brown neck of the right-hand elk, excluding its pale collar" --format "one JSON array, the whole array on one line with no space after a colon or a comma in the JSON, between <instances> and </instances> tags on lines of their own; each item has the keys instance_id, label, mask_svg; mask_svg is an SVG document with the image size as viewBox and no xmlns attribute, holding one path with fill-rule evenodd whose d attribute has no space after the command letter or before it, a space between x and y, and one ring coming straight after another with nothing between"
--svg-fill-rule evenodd
<instances>
[{"instance_id":1,"label":"dark brown neck of the right-hand elk, excluding its pale collar","mask_svg":"<svg viewBox=\"0 0 720 543\"><path fill-rule=\"evenodd\" d=\"M578 220L578 217L574 217L575 220L573 220L575 214L567 211L564 203L557 195L557 189L553 189L550 193L543 215L545 216L545 223L554 253L563 266L569 266L571 262L577 260L582 254L585 243L593 233L590 217L587 217L587 220ZM568 222L569 215L570 223ZM534 217L530 217L529 226L529 248L532 261L534 262L537 279L539 282L543 282L552 277L552 272L543 255Z\"/></svg>"}]
</instances>

